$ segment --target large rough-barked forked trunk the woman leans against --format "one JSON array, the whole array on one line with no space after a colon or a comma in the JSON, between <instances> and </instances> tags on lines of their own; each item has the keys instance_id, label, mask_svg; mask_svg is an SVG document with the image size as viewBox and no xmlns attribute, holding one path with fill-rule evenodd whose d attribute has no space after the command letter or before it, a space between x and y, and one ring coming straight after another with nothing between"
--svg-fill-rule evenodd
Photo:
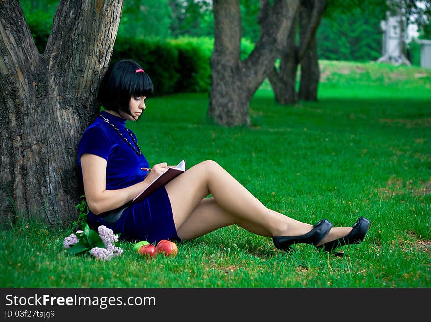
<instances>
[{"instance_id":1,"label":"large rough-barked forked trunk the woman leans against","mask_svg":"<svg viewBox=\"0 0 431 322\"><path fill-rule=\"evenodd\" d=\"M99 107L123 0L60 1L39 54L18 1L0 1L2 223L68 224L82 194L77 144Z\"/></svg>"}]
</instances>

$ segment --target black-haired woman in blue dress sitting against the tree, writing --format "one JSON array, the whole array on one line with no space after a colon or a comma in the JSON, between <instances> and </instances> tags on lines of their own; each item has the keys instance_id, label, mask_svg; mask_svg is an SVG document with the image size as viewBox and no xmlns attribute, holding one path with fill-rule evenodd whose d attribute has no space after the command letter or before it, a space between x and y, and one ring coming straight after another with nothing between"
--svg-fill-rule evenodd
<instances>
[{"instance_id":1,"label":"black-haired woman in blue dress sitting against the tree, writing","mask_svg":"<svg viewBox=\"0 0 431 322\"><path fill-rule=\"evenodd\" d=\"M153 84L132 60L112 64L99 89L104 110L83 133L78 148L89 224L105 225L129 241L189 240L218 228L237 224L248 231L272 237L276 248L308 243L332 251L361 242L369 220L360 217L352 227L333 228L323 219L311 225L265 207L215 161L188 169L166 186L138 203L131 200L168 165L161 162L150 172L136 136L125 127L144 112ZM226 193L229 191L229 193ZM211 194L211 198L206 198Z\"/></svg>"}]
</instances>

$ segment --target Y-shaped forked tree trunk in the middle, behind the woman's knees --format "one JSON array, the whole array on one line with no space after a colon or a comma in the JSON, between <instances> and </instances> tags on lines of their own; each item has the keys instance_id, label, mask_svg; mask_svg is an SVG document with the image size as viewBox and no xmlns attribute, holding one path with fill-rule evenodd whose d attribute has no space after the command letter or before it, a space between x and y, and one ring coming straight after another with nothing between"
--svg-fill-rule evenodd
<instances>
[{"instance_id":1,"label":"Y-shaped forked tree trunk in the middle, behind the woman's knees","mask_svg":"<svg viewBox=\"0 0 431 322\"><path fill-rule=\"evenodd\" d=\"M214 0L214 50L208 117L216 124L249 125L249 103L284 47L299 0L261 0L261 36L249 57L240 60L239 0Z\"/></svg>"}]
</instances>

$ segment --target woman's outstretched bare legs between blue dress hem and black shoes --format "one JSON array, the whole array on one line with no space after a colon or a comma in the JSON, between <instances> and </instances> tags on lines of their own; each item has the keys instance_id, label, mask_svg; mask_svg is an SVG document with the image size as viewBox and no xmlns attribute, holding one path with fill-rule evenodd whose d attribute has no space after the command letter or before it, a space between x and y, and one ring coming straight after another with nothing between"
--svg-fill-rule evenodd
<instances>
[{"instance_id":1,"label":"woman's outstretched bare legs between blue dress hem and black shoes","mask_svg":"<svg viewBox=\"0 0 431 322\"><path fill-rule=\"evenodd\" d=\"M299 236L312 229L310 224L265 207L214 161L193 166L170 181L166 190L180 238L195 238L234 223L267 237ZM205 201L209 194L214 199ZM342 237L350 230L332 228L320 243Z\"/></svg>"}]
</instances>

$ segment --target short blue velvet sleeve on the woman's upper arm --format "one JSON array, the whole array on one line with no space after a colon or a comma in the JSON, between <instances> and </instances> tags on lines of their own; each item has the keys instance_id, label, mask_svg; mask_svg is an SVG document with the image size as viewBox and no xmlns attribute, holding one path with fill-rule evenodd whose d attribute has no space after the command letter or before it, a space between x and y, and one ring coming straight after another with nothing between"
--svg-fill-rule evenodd
<instances>
[{"instance_id":1,"label":"short blue velvet sleeve on the woman's upper arm","mask_svg":"<svg viewBox=\"0 0 431 322\"><path fill-rule=\"evenodd\" d=\"M111 144L107 134L99 127L88 127L78 145L79 164L81 164L81 156L85 153L95 154L107 160L110 150Z\"/></svg>"}]
</instances>

